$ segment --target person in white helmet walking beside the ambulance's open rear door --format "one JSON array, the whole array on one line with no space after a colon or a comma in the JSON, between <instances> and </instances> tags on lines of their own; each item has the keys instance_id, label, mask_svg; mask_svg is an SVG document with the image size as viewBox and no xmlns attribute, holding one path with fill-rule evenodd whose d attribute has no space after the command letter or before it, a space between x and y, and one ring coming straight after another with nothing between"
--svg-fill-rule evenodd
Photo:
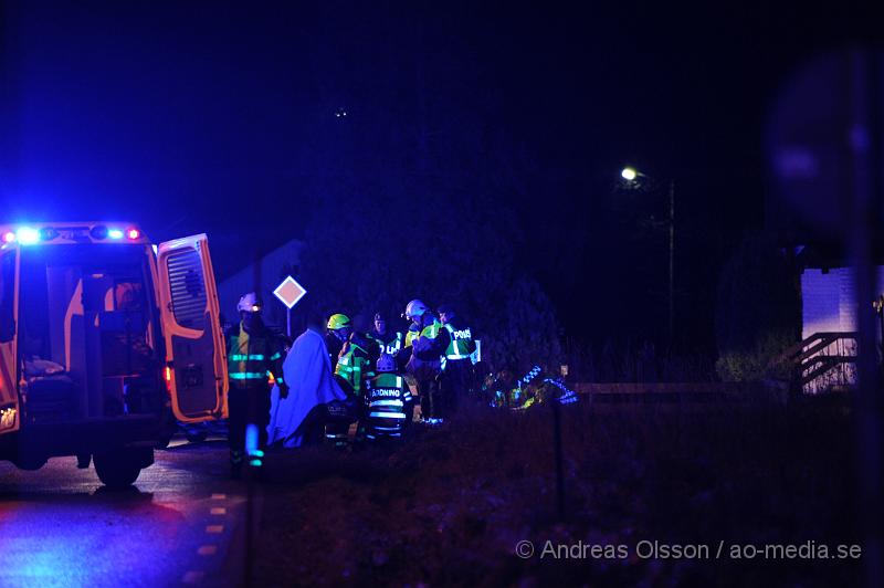
<instances>
[{"instance_id":1,"label":"person in white helmet walking beside the ambulance's open rear door","mask_svg":"<svg viewBox=\"0 0 884 588\"><path fill-rule=\"evenodd\" d=\"M270 422L270 386L272 375L280 386L280 397L288 396L288 386L283 379L283 342L272 333L261 318L262 304L254 292L240 298L236 305L240 324L225 334L230 392L230 465L231 475L240 477L245 461L245 430L249 424L257 428L259 449L267 442Z\"/></svg>"}]
</instances>

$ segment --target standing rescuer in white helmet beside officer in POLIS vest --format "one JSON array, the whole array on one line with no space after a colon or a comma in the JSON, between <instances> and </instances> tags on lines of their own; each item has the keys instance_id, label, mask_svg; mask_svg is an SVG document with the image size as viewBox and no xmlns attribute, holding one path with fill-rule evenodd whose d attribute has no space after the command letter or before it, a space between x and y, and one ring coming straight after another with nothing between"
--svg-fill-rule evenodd
<instances>
[{"instance_id":1,"label":"standing rescuer in white helmet beside officer in POLIS vest","mask_svg":"<svg viewBox=\"0 0 884 588\"><path fill-rule=\"evenodd\" d=\"M449 412L446 399L439 389L439 375L442 371L441 357L449 346L449 332L433 315L430 307L419 300L406 306L406 317L411 319L406 335L408 364L406 369L417 381L421 398L422 420L429 424L442 422Z\"/></svg>"}]
</instances>

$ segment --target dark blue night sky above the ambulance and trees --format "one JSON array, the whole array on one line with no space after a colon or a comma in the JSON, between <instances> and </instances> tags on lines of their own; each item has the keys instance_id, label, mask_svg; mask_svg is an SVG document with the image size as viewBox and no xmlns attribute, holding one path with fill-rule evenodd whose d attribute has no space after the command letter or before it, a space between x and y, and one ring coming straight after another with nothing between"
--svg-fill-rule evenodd
<instances>
[{"instance_id":1,"label":"dark blue night sky above the ambulance and trees","mask_svg":"<svg viewBox=\"0 0 884 588\"><path fill-rule=\"evenodd\" d=\"M635 284L629 255L610 254L620 168L674 179L681 304L703 316L701 338L722 261L765 223L771 99L806 60L880 34L872 2L52 4L2 4L4 220L204 231L223 275L243 238L298 237L338 178L382 183L385 159L409 168L429 120L430 141L475 129L460 135L477 146L464 150L471 177L484 156L494 174L506 169L494 154L527 162L509 203L550 237L525 266L570 328L591 328L599 275ZM649 267L663 267L657 249Z\"/></svg>"}]
</instances>

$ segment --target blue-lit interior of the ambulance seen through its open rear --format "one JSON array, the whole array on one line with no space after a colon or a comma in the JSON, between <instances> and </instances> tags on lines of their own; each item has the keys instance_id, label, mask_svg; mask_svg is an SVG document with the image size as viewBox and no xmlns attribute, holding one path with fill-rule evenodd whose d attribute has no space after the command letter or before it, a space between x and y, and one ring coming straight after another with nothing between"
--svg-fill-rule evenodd
<instances>
[{"instance_id":1,"label":"blue-lit interior of the ambulance seen through its open rear","mask_svg":"<svg viewBox=\"0 0 884 588\"><path fill-rule=\"evenodd\" d=\"M22 248L19 357L27 422L160 409L147 255L136 245Z\"/></svg>"}]
</instances>

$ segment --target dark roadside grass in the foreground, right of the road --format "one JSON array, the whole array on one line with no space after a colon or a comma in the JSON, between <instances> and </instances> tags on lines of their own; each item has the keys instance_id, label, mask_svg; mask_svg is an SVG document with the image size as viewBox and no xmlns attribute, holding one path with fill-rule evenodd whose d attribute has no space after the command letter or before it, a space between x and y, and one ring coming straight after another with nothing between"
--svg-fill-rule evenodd
<instances>
[{"instance_id":1,"label":"dark roadside grass in the foreground, right of the road","mask_svg":"<svg viewBox=\"0 0 884 588\"><path fill-rule=\"evenodd\" d=\"M566 518L549 407L476 407L394 450L269 455L255 553L266 586L855 585L856 563L642 559L661 544L859 543L850 413L627 402L565 407ZM520 559L519 540L536 554ZM549 545L624 545L566 559Z\"/></svg>"}]
</instances>

